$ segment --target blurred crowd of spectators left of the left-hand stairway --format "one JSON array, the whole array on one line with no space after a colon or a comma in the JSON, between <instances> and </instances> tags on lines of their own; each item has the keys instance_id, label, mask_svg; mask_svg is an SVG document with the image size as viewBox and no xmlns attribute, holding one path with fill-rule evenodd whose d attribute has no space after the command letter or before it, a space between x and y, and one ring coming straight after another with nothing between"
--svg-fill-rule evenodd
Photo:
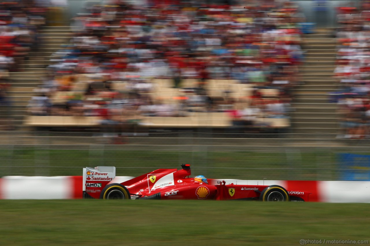
<instances>
[{"instance_id":1,"label":"blurred crowd of spectators left of the left-hand stairway","mask_svg":"<svg viewBox=\"0 0 370 246\"><path fill-rule=\"evenodd\" d=\"M40 5L41 4L41 5ZM41 1L0 2L0 107L1 129L13 129L10 121L9 72L21 72L30 51L37 50L38 29L45 24L47 8Z\"/></svg>"}]
</instances>

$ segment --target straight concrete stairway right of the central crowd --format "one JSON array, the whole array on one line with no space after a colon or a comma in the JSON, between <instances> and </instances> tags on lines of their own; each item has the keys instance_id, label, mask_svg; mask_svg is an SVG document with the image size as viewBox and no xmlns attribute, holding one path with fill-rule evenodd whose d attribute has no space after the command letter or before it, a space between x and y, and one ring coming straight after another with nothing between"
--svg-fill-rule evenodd
<instances>
[{"instance_id":1,"label":"straight concrete stairway right of the central crowd","mask_svg":"<svg viewBox=\"0 0 370 246\"><path fill-rule=\"evenodd\" d=\"M328 93L337 90L333 78L336 67L336 40L330 28L304 35L305 63L300 66L303 85L294 90L292 133L294 138L334 139L338 129L337 105L329 103Z\"/></svg>"}]
</instances>

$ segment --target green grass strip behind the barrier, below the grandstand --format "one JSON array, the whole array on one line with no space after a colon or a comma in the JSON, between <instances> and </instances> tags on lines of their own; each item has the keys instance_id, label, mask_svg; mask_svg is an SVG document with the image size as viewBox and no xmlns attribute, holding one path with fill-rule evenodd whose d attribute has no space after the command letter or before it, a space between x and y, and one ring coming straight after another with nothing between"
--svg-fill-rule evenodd
<instances>
[{"instance_id":1,"label":"green grass strip behind the barrier, below the grandstand","mask_svg":"<svg viewBox=\"0 0 370 246\"><path fill-rule=\"evenodd\" d=\"M210 178L339 180L335 153L182 150L0 150L0 177L81 175L83 167L117 167L118 176L138 176L157 168L192 165ZM303 169L302 169L303 168Z\"/></svg>"}]
</instances>

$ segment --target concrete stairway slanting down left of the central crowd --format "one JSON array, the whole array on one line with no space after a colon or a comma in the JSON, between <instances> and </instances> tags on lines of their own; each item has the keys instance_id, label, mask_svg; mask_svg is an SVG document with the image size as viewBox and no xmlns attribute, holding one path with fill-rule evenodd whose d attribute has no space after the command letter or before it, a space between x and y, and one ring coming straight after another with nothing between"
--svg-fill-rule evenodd
<instances>
[{"instance_id":1,"label":"concrete stairway slanting down left of the central crowd","mask_svg":"<svg viewBox=\"0 0 370 246\"><path fill-rule=\"evenodd\" d=\"M27 115L27 104L34 94L34 88L43 83L51 54L60 49L61 45L67 43L70 38L69 26L43 27L40 31L38 50L30 52L28 60L21 65L19 72L10 73L12 82L8 95L11 101L12 124L16 128L21 126L24 116Z\"/></svg>"}]
</instances>

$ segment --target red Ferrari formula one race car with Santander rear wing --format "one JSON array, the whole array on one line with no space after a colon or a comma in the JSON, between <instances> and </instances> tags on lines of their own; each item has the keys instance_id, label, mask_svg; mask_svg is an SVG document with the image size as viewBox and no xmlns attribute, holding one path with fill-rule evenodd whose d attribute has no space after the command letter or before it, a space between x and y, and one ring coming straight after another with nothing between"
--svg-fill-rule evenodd
<instances>
[{"instance_id":1,"label":"red Ferrari formula one race car with Santander rear wing","mask_svg":"<svg viewBox=\"0 0 370 246\"><path fill-rule=\"evenodd\" d=\"M115 177L115 167L87 167L83 171L83 198L95 199L214 199L308 201L310 192L290 191L279 185L246 185L243 180L207 180L189 177L182 169L157 169L139 177ZM239 184L238 184L239 183Z\"/></svg>"}]
</instances>

